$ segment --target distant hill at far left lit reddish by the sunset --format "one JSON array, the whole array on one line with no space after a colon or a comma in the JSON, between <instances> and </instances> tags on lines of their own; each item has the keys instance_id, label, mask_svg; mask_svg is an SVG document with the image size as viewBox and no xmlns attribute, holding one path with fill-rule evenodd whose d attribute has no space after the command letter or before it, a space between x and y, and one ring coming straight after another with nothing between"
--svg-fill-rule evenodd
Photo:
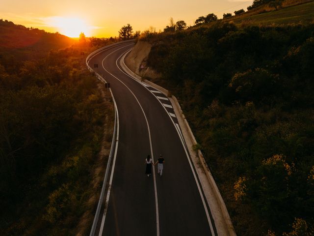
<instances>
[{"instance_id":1,"label":"distant hill at far left lit reddish by the sunset","mask_svg":"<svg viewBox=\"0 0 314 236\"><path fill-rule=\"evenodd\" d=\"M76 42L59 33L26 28L2 19L0 19L0 35L0 59L3 54L10 54L22 60L40 58L52 49L65 48Z\"/></svg>"}]
</instances>

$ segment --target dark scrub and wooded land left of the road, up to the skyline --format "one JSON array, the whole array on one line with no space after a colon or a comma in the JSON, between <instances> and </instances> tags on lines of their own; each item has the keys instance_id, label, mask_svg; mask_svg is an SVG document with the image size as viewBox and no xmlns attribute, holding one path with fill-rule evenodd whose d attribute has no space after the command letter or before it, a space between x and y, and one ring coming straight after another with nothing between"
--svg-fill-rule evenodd
<instances>
[{"instance_id":1,"label":"dark scrub and wooded land left of the road, up to the skyline","mask_svg":"<svg viewBox=\"0 0 314 236\"><path fill-rule=\"evenodd\" d=\"M38 35L7 21L0 27L11 39L19 30ZM88 235L114 112L85 58L116 39L38 32L53 44L0 47L0 235Z\"/></svg>"}]
</instances>

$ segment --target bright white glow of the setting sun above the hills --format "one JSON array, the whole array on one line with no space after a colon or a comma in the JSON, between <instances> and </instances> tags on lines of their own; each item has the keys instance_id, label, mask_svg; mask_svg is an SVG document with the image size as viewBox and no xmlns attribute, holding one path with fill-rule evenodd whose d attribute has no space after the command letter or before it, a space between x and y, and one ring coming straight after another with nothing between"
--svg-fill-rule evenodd
<instances>
[{"instance_id":1,"label":"bright white glow of the setting sun above the hills","mask_svg":"<svg viewBox=\"0 0 314 236\"><path fill-rule=\"evenodd\" d=\"M86 36L90 34L90 29L86 23L82 19L75 17L50 17L47 24L55 27L59 30L59 33L68 37L78 38L80 32L84 32Z\"/></svg>"}]
</instances>

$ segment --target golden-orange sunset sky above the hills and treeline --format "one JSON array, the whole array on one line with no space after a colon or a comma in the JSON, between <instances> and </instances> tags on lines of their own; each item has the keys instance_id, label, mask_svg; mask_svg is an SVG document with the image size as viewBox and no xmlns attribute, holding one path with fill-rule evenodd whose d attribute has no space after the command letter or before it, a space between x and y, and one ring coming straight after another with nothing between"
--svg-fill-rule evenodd
<instances>
[{"instance_id":1,"label":"golden-orange sunset sky above the hills and treeline","mask_svg":"<svg viewBox=\"0 0 314 236\"><path fill-rule=\"evenodd\" d=\"M0 0L0 18L15 24L60 32L78 37L117 36L122 26L130 24L133 30L144 31L150 27L156 31L183 20L194 25L203 15L233 13L251 5L253 0Z\"/></svg>"}]
</instances>

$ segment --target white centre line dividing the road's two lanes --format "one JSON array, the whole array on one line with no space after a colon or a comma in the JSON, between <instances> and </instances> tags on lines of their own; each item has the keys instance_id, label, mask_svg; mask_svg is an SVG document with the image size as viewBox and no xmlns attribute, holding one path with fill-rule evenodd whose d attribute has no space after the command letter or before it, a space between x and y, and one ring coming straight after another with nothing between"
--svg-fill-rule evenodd
<instances>
[{"instance_id":1,"label":"white centre line dividing the road's two lanes","mask_svg":"<svg viewBox=\"0 0 314 236\"><path fill-rule=\"evenodd\" d=\"M130 45L128 45L128 46L130 46ZM126 46L126 47L127 47L127 46ZM125 47L122 47L122 48L125 48ZM120 49L122 49L122 48L120 48ZM118 49L118 50L119 50L119 49ZM116 51L118 51L118 50L116 50ZM112 53L114 53L114 52L115 52L115 51L113 51ZM137 101L138 105L140 106L140 108L141 108L141 110L142 110L142 112L143 112L143 115L144 115L144 117L145 117L145 120L146 120L147 129L148 129L148 135L149 135L150 148L151 148L151 156L152 156L152 160L153 160L153 162L154 162L154 154L153 154L153 146L152 146L151 131L150 131L148 119L147 119L147 117L146 117L146 114L145 114L145 112L144 112L144 109L142 108L142 106L141 106L141 104L139 103L137 97L136 97L135 94L131 91L131 89L130 89L125 83L123 83L120 79L118 79L116 76L114 76L113 74L111 74L109 71L107 71L107 70L105 69L104 60L105 60L109 55L111 55L112 53L108 54L108 55L103 59L103 61L102 61L102 66L103 66L104 70L105 70L107 73L109 73L112 77L116 78L116 79L117 79L118 81L120 81L127 89L129 89L129 91L133 94L135 100ZM124 55L124 54L122 54L122 55L116 60L116 65L117 65L118 68L119 68L119 66L118 66L117 61L118 61L123 55ZM119 68L119 70L121 70L121 69ZM114 159L114 160L115 160L115 159ZM115 161L114 161L113 163L115 163ZM112 172L111 172L111 175L113 175ZM158 198L157 198L157 184L156 184L155 168L153 168L153 177L154 177L155 203L156 203L156 227L157 227L157 236L159 236L159 213L158 213ZM111 179L111 177L110 177L110 179ZM109 186L111 186L111 182L109 183ZM104 222L105 222L105 219L104 219ZM100 232L100 235L99 235L99 236L101 236L101 233L102 233L102 232Z\"/></svg>"}]
</instances>

